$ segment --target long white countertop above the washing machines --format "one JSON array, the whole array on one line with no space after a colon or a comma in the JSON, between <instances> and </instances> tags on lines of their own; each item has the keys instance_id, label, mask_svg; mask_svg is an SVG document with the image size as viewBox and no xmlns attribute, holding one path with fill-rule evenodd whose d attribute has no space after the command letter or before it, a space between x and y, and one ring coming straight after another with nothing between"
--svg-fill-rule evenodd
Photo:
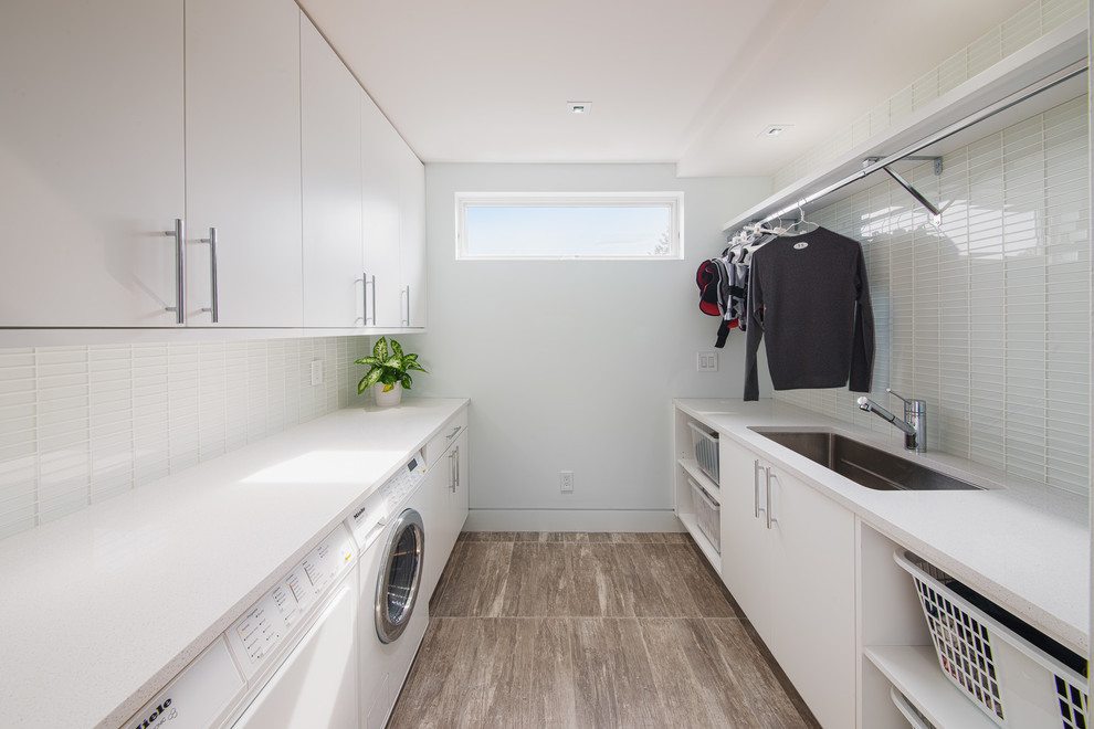
<instances>
[{"instance_id":1,"label":"long white countertop above the washing machines","mask_svg":"<svg viewBox=\"0 0 1094 729\"><path fill-rule=\"evenodd\" d=\"M350 408L0 542L0 727L116 727L466 400Z\"/></svg>"}]
</instances>

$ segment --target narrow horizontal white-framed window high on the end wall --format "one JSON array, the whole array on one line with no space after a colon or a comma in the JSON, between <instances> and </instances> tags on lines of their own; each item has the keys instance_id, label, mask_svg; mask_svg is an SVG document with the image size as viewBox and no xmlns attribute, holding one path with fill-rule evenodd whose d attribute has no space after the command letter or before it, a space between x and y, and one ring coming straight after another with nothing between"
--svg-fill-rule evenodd
<instances>
[{"instance_id":1,"label":"narrow horizontal white-framed window high on the end wall","mask_svg":"<svg viewBox=\"0 0 1094 729\"><path fill-rule=\"evenodd\" d=\"M683 192L457 192L456 258L684 257Z\"/></svg>"}]
</instances>

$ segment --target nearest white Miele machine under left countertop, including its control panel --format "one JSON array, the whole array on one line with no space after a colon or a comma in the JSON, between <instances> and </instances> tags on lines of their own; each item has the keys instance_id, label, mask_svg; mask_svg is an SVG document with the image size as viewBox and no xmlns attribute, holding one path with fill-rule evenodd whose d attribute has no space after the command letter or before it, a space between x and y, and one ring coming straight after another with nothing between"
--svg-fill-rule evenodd
<instances>
[{"instance_id":1,"label":"nearest white Miele machine under left countertop, including its control panel","mask_svg":"<svg viewBox=\"0 0 1094 729\"><path fill-rule=\"evenodd\" d=\"M125 729L359 729L357 546L339 525Z\"/></svg>"}]
</instances>

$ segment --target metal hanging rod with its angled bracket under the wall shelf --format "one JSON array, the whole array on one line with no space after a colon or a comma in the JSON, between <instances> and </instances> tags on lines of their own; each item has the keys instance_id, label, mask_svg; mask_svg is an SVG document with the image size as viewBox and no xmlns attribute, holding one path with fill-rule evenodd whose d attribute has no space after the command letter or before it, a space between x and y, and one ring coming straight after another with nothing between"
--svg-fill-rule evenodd
<instances>
[{"instance_id":1,"label":"metal hanging rod with its angled bracket under the wall shelf","mask_svg":"<svg viewBox=\"0 0 1094 729\"><path fill-rule=\"evenodd\" d=\"M900 182L905 189L907 189L908 192L911 192L912 194L914 194L916 197L916 199L919 200L919 202L924 203L925 205L928 205L929 208L933 209L933 212L935 212L935 211L937 211L937 208L934 208L934 205L930 205L930 203L927 202L925 199L923 199L922 196L919 196L917 192L914 192L915 188L913 188L911 184L908 184L906 180L903 180L903 178L901 178L898 175L896 175L892 170L887 169L890 165L893 165L895 162L898 162L902 159L907 159L912 155L915 155L916 152L926 149L930 145L937 144L937 142L942 141L943 139L946 139L947 137L951 137L951 136L954 136L955 134L957 134L959 131L964 131L965 129L968 129L972 125L979 124L980 122L983 122L985 119L987 119L989 117L992 117L992 116L995 116L995 115L997 115L997 114L999 114L1001 112L1006 112L1007 109L1011 108L1012 106L1016 106L1018 104L1021 104L1025 99L1031 98L1032 96L1035 96L1037 94L1040 94L1043 91L1048 91L1048 89L1050 89L1050 88L1052 88L1054 86L1059 86L1060 84L1064 83L1065 81L1070 81L1071 78L1074 78L1075 76L1084 73L1086 71L1086 68L1087 68L1088 65L1090 65L1088 59L1084 59L1082 61L1076 61L1075 63L1072 63L1071 65L1065 66L1065 67L1061 68L1060 71L1056 71L1055 73L1049 74L1048 76L1045 76L1041 81L1034 82L1034 83L1030 84L1029 86L1027 86L1025 88L1022 88L1021 91L1017 91L1013 94L1010 94L1009 96L1006 96L1006 97L999 99L995 104L989 104L988 106L983 107L979 112L976 112L974 114L970 114L969 116L965 117L964 119L960 119L958 122L955 122L954 124L950 124L947 127L944 127L942 130L936 131L935 134L929 135L927 137L924 137L919 141L916 141L916 142L914 142L912 145L908 145L907 147L901 149L897 152L894 152L894 154L888 155L886 157L870 157L870 158L866 158L863 161L863 167L862 167L861 170L849 175L848 177L843 178L842 180L839 180L839 181L833 182L833 183L831 183L829 186L825 186L821 190L818 190L817 192L813 192L811 194L808 194L804 198L801 198L801 199L797 200L796 202L793 202L793 204L787 205L786 208L782 208L782 209L780 209L780 210L771 213L770 215L767 215L766 218L762 218L762 219L759 219L759 220L753 220L748 224L750 224L750 225L760 224L761 225L764 223L769 223L772 220L776 220L778 218L782 218L787 213L793 212L793 211L798 210L799 208L802 208L804 205L808 205L811 202L814 202L814 201L817 201L817 200L819 200L819 199L821 199L821 198L823 198L825 196L829 196L829 194L835 192L837 190L840 190L842 188L845 188L846 186L851 184L852 182L858 182L862 178L867 177L870 175L873 175L874 172L876 172L879 170L885 170L886 172L888 172L888 175L892 176L897 182ZM935 214L939 214L939 213L935 212ZM739 229L739 226L738 226L738 229Z\"/></svg>"}]
</instances>

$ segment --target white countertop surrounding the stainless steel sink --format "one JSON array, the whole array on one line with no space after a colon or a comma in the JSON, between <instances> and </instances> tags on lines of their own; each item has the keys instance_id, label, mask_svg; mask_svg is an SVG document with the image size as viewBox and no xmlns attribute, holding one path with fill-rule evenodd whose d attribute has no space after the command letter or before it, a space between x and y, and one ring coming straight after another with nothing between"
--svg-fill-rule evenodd
<instances>
[{"instance_id":1,"label":"white countertop surrounding the stainless steel sink","mask_svg":"<svg viewBox=\"0 0 1094 729\"><path fill-rule=\"evenodd\" d=\"M865 431L774 400L675 400L688 415L792 474L1042 632L1086 655L1091 624L1091 531L1083 496L1007 476L943 453L909 454L903 436ZM865 488L749 430L819 426L989 490Z\"/></svg>"}]
</instances>

